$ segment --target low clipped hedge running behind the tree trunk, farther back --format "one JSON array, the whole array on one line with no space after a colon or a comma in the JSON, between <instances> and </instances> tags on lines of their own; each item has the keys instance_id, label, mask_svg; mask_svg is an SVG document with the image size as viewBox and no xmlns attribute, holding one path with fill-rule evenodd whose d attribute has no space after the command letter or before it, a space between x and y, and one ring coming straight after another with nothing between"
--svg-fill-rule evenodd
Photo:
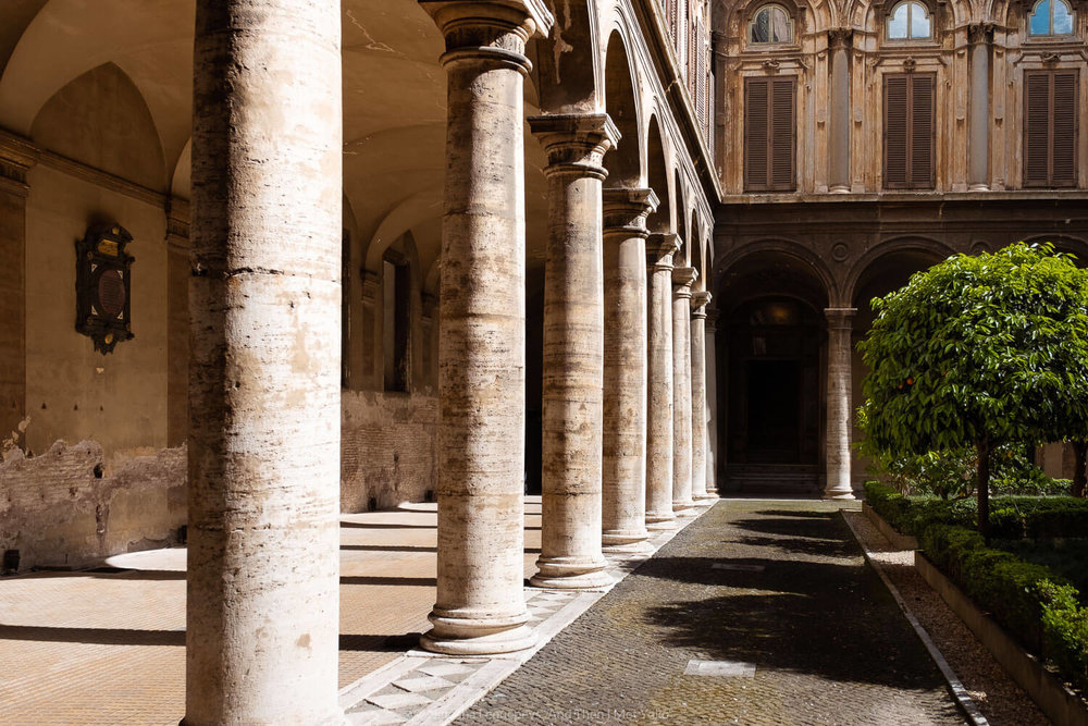
<instances>
[{"instance_id":1,"label":"low clipped hedge running behind the tree trunk, farther back","mask_svg":"<svg viewBox=\"0 0 1088 726\"><path fill-rule=\"evenodd\" d=\"M974 527L974 497L906 497L880 482L865 483L865 501L885 521L905 534L920 537L930 525ZM990 536L1002 540L1088 537L1088 500L1074 496L994 496L990 499Z\"/></svg>"}]
</instances>

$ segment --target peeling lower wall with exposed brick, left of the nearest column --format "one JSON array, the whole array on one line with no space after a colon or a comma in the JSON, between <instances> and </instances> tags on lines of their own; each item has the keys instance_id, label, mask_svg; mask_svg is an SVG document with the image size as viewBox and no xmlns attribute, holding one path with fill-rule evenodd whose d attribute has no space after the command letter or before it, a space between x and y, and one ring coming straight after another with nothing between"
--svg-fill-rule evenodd
<instances>
[{"instance_id":1,"label":"peeling lower wall with exposed brick, left of the nearest column","mask_svg":"<svg viewBox=\"0 0 1088 726\"><path fill-rule=\"evenodd\" d=\"M185 446L110 470L92 441L63 441L33 458L0 464L0 550L18 550L20 571L85 567L110 555L177 543L186 522Z\"/></svg>"}]
</instances>

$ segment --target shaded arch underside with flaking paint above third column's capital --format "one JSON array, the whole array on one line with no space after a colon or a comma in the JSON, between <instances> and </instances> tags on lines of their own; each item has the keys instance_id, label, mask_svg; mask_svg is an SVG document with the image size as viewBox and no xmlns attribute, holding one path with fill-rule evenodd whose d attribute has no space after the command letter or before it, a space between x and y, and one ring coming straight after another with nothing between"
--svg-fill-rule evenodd
<instances>
[{"instance_id":1,"label":"shaded arch underside with flaking paint above third column's capital","mask_svg":"<svg viewBox=\"0 0 1088 726\"><path fill-rule=\"evenodd\" d=\"M559 2L555 24L535 41L535 79L542 113L591 113L601 108L604 86L592 2Z\"/></svg>"}]
</instances>

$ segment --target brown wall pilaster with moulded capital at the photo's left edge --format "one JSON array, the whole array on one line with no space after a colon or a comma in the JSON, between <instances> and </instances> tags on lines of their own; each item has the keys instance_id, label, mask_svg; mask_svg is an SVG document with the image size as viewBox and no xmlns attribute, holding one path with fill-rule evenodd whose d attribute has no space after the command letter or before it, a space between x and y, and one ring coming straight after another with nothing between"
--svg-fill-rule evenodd
<instances>
[{"instance_id":1,"label":"brown wall pilaster with moulded capital at the photo's left edge","mask_svg":"<svg viewBox=\"0 0 1088 726\"><path fill-rule=\"evenodd\" d=\"M28 139L0 131L0 440L22 436L27 415L26 174L37 157Z\"/></svg>"}]
</instances>

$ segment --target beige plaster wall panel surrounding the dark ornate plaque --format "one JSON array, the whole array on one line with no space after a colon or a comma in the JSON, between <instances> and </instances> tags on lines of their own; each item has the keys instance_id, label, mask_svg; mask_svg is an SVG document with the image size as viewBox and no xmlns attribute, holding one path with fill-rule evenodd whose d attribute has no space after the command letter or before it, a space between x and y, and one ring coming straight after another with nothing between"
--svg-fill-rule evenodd
<instances>
[{"instance_id":1,"label":"beige plaster wall panel surrounding the dark ornate plaque","mask_svg":"<svg viewBox=\"0 0 1088 726\"><path fill-rule=\"evenodd\" d=\"M26 446L97 441L109 460L166 445L166 249L161 209L46 167L28 174ZM132 233L135 337L97 353L75 330L75 243L90 224Z\"/></svg>"}]
</instances>

